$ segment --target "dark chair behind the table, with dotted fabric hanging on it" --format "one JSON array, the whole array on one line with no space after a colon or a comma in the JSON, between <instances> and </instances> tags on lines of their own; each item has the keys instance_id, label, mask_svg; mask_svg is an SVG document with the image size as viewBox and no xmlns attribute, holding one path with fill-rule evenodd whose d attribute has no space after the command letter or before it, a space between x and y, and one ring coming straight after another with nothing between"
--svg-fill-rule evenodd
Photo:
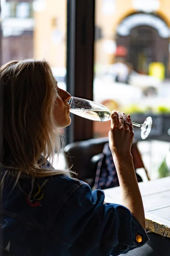
<instances>
[{"instance_id":1,"label":"dark chair behind the table, with dotted fabric hanging on it","mask_svg":"<svg viewBox=\"0 0 170 256\"><path fill-rule=\"evenodd\" d=\"M64 148L68 168L72 167L71 170L78 174L77 178L88 183L91 188L94 186L97 163L102 155L105 143L108 143L108 137L74 142ZM133 142L131 153L134 168L144 168L147 179L150 180L136 141Z\"/></svg>"}]
</instances>

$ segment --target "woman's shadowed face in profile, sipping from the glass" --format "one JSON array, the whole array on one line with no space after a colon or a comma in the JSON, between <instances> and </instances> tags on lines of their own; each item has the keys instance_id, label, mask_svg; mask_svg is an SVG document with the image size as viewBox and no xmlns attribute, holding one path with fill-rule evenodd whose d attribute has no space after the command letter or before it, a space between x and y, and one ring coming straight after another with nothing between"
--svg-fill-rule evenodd
<instances>
[{"instance_id":1,"label":"woman's shadowed face in profile, sipping from the glass","mask_svg":"<svg viewBox=\"0 0 170 256\"><path fill-rule=\"evenodd\" d=\"M54 105L54 118L59 128L65 128L71 124L68 100L70 93L56 86L57 97Z\"/></svg>"}]
</instances>

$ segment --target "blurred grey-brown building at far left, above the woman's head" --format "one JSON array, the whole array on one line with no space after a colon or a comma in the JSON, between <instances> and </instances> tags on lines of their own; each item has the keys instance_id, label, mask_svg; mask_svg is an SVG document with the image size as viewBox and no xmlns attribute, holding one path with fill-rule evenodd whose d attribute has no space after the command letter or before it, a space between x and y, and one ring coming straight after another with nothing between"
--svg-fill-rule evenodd
<instances>
[{"instance_id":1,"label":"blurred grey-brown building at far left, above the woman's head","mask_svg":"<svg viewBox=\"0 0 170 256\"><path fill-rule=\"evenodd\" d=\"M11 59L33 57L32 0L1 0L2 56L4 64Z\"/></svg>"}]
</instances>

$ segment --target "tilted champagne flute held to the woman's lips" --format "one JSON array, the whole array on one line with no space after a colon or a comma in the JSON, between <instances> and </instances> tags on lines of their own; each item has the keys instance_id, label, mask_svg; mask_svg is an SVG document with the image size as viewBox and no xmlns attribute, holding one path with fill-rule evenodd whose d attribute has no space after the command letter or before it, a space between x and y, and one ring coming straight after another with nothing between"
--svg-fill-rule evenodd
<instances>
[{"instance_id":1,"label":"tilted champagne flute held to the woman's lips","mask_svg":"<svg viewBox=\"0 0 170 256\"><path fill-rule=\"evenodd\" d=\"M111 111L107 107L91 100L71 97L68 104L70 105L70 112L78 116L98 122L106 122L111 119ZM141 128L141 137L144 140L152 128L152 117L148 116L143 124L135 122L132 124Z\"/></svg>"}]
</instances>

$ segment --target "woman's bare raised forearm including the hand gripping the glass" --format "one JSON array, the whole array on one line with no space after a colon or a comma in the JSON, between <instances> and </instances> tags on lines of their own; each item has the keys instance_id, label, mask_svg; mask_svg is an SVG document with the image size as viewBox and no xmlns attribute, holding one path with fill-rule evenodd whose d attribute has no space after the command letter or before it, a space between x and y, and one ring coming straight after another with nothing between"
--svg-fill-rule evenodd
<instances>
[{"instance_id":1,"label":"woman's bare raised forearm including the hand gripping the glass","mask_svg":"<svg viewBox=\"0 0 170 256\"><path fill-rule=\"evenodd\" d=\"M113 111L109 146L122 190L122 204L130 210L145 229L143 202L133 167L133 157L130 153L133 136L130 115L126 117L124 113Z\"/></svg>"}]
</instances>

